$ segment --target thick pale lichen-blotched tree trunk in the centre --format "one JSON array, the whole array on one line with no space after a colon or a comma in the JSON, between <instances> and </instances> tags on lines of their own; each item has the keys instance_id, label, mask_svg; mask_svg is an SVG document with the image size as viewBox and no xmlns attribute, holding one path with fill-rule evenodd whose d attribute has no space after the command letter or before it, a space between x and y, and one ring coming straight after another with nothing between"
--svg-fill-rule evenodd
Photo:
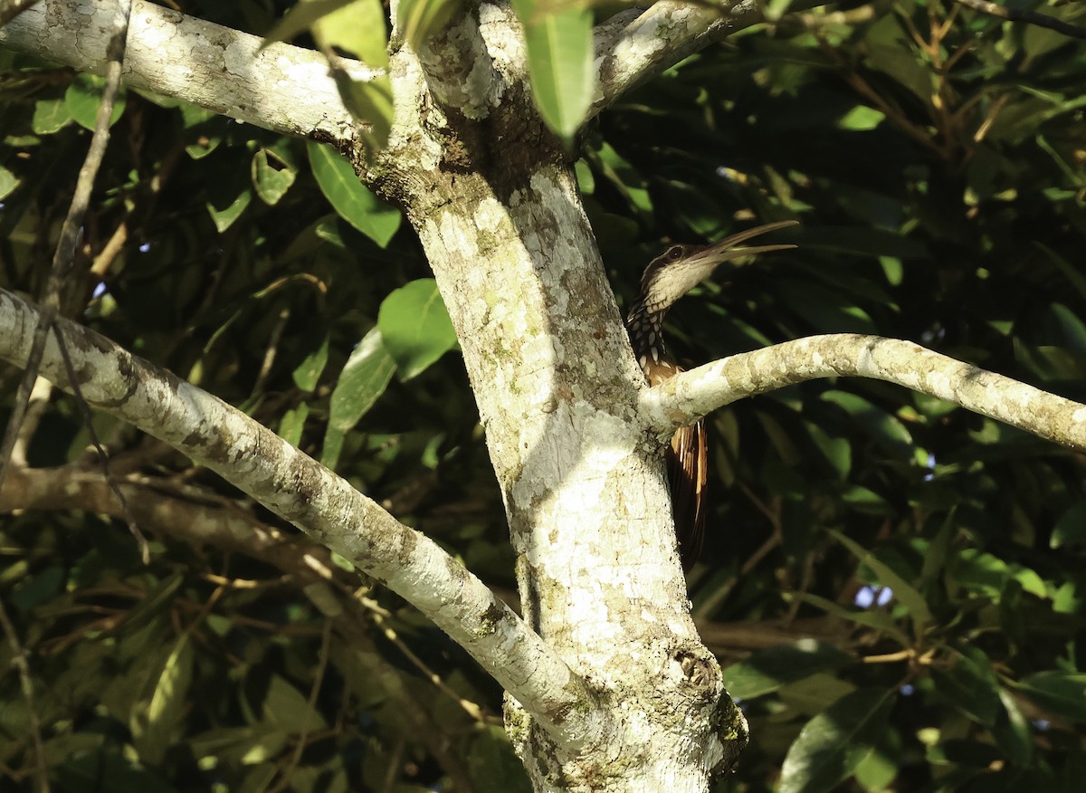
<instances>
[{"instance_id":1,"label":"thick pale lichen-blotched tree trunk in the centre","mask_svg":"<svg viewBox=\"0 0 1086 793\"><path fill-rule=\"evenodd\" d=\"M519 35L507 16L489 36ZM608 715L564 743L509 697L509 735L536 790L705 790L746 725L694 629L644 378L572 169L523 90L453 122L408 48L392 78L393 146L370 176L405 207L460 340L525 617Z\"/></svg>"}]
</instances>

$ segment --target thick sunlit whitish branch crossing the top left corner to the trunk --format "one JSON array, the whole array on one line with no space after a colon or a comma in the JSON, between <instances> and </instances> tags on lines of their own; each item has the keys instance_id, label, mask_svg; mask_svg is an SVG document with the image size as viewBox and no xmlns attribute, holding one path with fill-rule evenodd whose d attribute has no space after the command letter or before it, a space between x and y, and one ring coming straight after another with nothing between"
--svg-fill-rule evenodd
<instances>
[{"instance_id":1,"label":"thick sunlit whitish branch crossing the top left corner to the trunk","mask_svg":"<svg viewBox=\"0 0 1086 793\"><path fill-rule=\"evenodd\" d=\"M0 28L0 46L80 72L105 74L117 0L42 0ZM356 122L343 106L324 55L134 0L123 79L141 88L286 135L350 140ZM355 79L376 73L355 61Z\"/></svg>"}]
</instances>

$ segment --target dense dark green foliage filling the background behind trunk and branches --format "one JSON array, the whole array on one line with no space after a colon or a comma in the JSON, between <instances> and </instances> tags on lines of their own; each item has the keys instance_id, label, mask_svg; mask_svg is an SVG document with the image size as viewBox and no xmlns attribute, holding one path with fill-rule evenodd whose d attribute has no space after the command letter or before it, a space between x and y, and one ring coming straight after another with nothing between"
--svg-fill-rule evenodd
<instances>
[{"instance_id":1,"label":"dense dark green foliage filling the background behind trunk and branches","mask_svg":"<svg viewBox=\"0 0 1086 793\"><path fill-rule=\"evenodd\" d=\"M185 10L264 33L270 5ZM578 175L620 303L666 240L794 217L798 250L672 313L682 357L860 331L1086 401L1086 51L952 4L848 13L733 36L592 123ZM98 83L4 51L0 71L0 285L35 295ZM426 261L350 181L320 147L128 92L68 314L276 428L509 591L501 499ZM2 416L21 373L0 372ZM857 380L709 425L691 596L753 733L719 790L1079 789L1081 455ZM294 540L169 450L108 416L94 427L134 499ZM29 465L58 481L99 470L89 442L54 394ZM35 729L62 790L525 784L496 684L402 601L333 561L321 584L296 564L302 541L285 561L184 523L144 526L144 567L116 515L70 507L0 524L0 596L39 722L5 641L5 790L33 784Z\"/></svg>"}]
</instances>

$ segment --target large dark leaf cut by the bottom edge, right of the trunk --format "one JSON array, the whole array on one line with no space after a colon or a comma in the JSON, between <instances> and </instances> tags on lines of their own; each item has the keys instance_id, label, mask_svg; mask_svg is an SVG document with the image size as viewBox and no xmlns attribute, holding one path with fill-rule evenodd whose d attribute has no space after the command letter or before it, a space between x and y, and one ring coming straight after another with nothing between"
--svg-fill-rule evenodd
<instances>
[{"instance_id":1,"label":"large dark leaf cut by the bottom edge, right of the trunk","mask_svg":"<svg viewBox=\"0 0 1086 793\"><path fill-rule=\"evenodd\" d=\"M808 721L788 747L779 793L833 790L874 751L886 731L894 690L860 689Z\"/></svg>"}]
</instances>

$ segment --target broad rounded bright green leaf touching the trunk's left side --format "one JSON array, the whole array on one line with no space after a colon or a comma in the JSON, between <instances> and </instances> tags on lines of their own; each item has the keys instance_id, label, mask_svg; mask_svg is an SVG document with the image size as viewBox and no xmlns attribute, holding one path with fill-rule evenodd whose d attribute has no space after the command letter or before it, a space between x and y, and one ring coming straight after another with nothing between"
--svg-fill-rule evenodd
<instances>
[{"instance_id":1,"label":"broad rounded bright green leaf touching the trunk's left side","mask_svg":"<svg viewBox=\"0 0 1086 793\"><path fill-rule=\"evenodd\" d=\"M386 298L377 327L405 380L456 347L456 332L432 278L419 278Z\"/></svg>"}]
</instances>

